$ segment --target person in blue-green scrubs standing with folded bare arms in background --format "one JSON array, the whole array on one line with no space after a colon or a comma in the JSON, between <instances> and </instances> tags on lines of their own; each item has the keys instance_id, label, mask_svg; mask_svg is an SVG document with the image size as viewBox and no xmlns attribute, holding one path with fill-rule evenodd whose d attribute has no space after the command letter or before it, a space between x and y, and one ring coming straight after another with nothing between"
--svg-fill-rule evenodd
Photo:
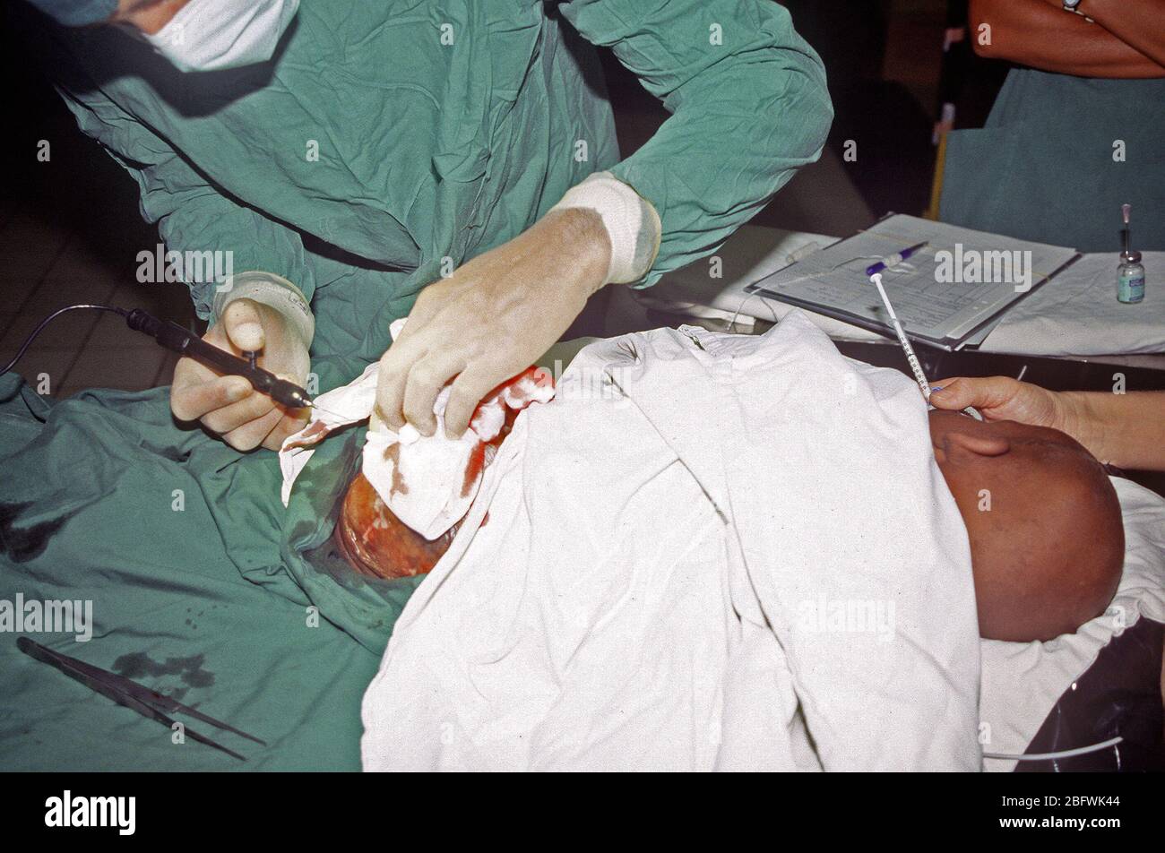
<instances>
[{"instance_id":1,"label":"person in blue-green scrubs standing with folded bare arms in background","mask_svg":"<svg viewBox=\"0 0 1165 853\"><path fill-rule=\"evenodd\" d=\"M1016 68L987 125L949 135L940 218L1115 270L1131 204L1134 247L1165 249L1165 0L972 0L968 22Z\"/></svg>"}]
</instances>

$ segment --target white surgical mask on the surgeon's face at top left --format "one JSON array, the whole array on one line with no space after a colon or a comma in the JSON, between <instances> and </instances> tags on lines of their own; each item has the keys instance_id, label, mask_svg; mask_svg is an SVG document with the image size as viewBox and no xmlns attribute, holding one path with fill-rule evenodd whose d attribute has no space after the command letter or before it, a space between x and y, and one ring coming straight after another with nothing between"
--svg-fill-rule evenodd
<instances>
[{"instance_id":1,"label":"white surgical mask on the surgeon's face at top left","mask_svg":"<svg viewBox=\"0 0 1165 853\"><path fill-rule=\"evenodd\" d=\"M146 38L182 71L221 71L267 62L299 0L190 0Z\"/></svg>"}]
</instances>

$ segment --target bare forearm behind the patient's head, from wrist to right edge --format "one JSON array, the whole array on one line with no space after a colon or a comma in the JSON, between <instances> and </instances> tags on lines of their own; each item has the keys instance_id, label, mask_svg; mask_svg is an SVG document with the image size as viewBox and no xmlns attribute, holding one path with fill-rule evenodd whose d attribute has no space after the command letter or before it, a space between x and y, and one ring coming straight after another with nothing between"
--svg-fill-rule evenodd
<instances>
[{"instance_id":1,"label":"bare forearm behind the patient's head, from wrist to right edge","mask_svg":"<svg viewBox=\"0 0 1165 853\"><path fill-rule=\"evenodd\" d=\"M1165 471L1165 392L1065 392L1061 429L1103 463Z\"/></svg>"}]
</instances>

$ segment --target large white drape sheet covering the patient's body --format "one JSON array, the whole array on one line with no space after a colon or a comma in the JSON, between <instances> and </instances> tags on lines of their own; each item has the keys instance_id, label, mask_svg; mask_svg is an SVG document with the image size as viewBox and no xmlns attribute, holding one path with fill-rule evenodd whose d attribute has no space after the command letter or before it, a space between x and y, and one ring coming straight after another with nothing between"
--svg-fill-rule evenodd
<instances>
[{"instance_id":1,"label":"large white drape sheet covering the patient's body","mask_svg":"<svg viewBox=\"0 0 1165 853\"><path fill-rule=\"evenodd\" d=\"M657 330L518 418L396 625L363 763L975 770L979 655L913 382L799 312Z\"/></svg>"}]
</instances>

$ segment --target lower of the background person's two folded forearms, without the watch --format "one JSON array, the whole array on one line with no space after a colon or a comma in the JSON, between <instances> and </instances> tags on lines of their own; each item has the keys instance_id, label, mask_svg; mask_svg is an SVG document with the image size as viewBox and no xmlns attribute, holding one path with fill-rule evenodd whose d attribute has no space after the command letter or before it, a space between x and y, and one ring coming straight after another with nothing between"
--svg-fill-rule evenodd
<instances>
[{"instance_id":1,"label":"lower of the background person's two folded forearms, without the watch","mask_svg":"<svg viewBox=\"0 0 1165 853\"><path fill-rule=\"evenodd\" d=\"M970 0L968 23L975 52L987 58L1079 77L1165 77L1165 66L1104 27L1046 0Z\"/></svg>"}]
</instances>

